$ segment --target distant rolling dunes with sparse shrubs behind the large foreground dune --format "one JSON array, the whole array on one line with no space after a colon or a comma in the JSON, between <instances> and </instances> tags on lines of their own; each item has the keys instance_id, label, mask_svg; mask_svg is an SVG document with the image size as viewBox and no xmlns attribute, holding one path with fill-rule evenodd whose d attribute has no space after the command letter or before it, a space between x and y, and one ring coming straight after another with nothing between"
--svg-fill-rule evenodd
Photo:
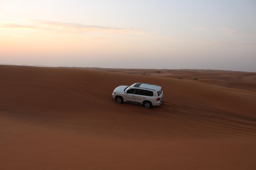
<instances>
[{"instance_id":1,"label":"distant rolling dunes with sparse shrubs behind the large foreground dune","mask_svg":"<svg viewBox=\"0 0 256 170\"><path fill-rule=\"evenodd\" d=\"M256 73L241 71L221 70L193 70L193 69L110 69L110 68L83 68L108 72L127 74L150 75L156 77L169 77L174 79L196 80L220 87L238 88L248 91L256 91Z\"/></svg>"}]
</instances>

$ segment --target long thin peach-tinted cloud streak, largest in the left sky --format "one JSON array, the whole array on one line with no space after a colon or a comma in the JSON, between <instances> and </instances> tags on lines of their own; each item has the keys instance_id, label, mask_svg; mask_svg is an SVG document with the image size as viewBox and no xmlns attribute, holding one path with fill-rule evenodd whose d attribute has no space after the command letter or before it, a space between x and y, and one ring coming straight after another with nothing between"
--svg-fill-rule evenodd
<instances>
[{"instance_id":1,"label":"long thin peach-tinted cloud streak, largest in the left sky","mask_svg":"<svg viewBox=\"0 0 256 170\"><path fill-rule=\"evenodd\" d=\"M57 22L44 20L30 20L31 25L20 24L0 24L0 27L8 29L23 30L50 30L58 33L87 34L89 32L104 32L109 34L143 34L145 30L141 28L118 28L109 26L85 25L73 22Z\"/></svg>"}]
</instances>

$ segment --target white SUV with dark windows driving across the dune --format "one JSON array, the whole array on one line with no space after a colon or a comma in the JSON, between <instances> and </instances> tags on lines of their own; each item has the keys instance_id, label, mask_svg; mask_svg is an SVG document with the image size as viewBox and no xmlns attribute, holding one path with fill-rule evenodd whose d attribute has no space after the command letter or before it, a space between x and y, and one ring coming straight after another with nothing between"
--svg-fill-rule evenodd
<instances>
[{"instance_id":1,"label":"white SUV with dark windows driving across the dune","mask_svg":"<svg viewBox=\"0 0 256 170\"><path fill-rule=\"evenodd\" d=\"M161 87L148 83L134 83L130 86L118 86L112 93L117 103L129 102L142 104L150 108L159 106L163 101Z\"/></svg>"}]
</instances>

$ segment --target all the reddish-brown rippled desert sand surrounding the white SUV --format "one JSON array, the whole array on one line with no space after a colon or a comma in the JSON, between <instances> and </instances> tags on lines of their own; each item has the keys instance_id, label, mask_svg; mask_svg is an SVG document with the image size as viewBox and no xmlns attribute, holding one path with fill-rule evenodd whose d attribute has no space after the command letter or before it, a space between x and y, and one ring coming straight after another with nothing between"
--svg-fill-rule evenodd
<instances>
[{"instance_id":1,"label":"all the reddish-brown rippled desert sand surrounding the white SUV","mask_svg":"<svg viewBox=\"0 0 256 170\"><path fill-rule=\"evenodd\" d=\"M163 104L118 104L134 82ZM255 170L256 73L0 65L1 170Z\"/></svg>"}]
</instances>

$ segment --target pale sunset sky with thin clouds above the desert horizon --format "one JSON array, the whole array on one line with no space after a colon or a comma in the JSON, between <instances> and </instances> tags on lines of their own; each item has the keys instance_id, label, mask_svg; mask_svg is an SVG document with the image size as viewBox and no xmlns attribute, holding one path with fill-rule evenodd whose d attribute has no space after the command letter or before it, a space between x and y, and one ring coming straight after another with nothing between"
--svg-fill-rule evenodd
<instances>
[{"instance_id":1,"label":"pale sunset sky with thin clouds above the desert horizon","mask_svg":"<svg viewBox=\"0 0 256 170\"><path fill-rule=\"evenodd\" d=\"M0 63L256 72L256 0L0 0Z\"/></svg>"}]
</instances>

